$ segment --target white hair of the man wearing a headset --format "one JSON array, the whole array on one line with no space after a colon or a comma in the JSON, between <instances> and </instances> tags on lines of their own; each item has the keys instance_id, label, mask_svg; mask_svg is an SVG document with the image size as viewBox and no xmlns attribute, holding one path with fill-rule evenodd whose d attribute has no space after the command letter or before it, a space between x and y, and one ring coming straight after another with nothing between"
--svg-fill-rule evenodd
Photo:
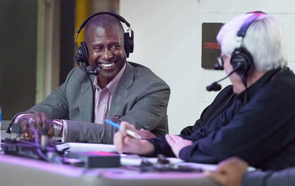
<instances>
[{"instance_id":1,"label":"white hair of the man wearing a headset","mask_svg":"<svg viewBox=\"0 0 295 186\"><path fill-rule=\"evenodd\" d=\"M235 48L238 30L251 15L253 13L239 15L227 22L219 31L217 41L222 53L229 58ZM259 16L250 24L242 46L252 55L257 71L269 71L287 66L285 35L280 24L268 14Z\"/></svg>"}]
</instances>

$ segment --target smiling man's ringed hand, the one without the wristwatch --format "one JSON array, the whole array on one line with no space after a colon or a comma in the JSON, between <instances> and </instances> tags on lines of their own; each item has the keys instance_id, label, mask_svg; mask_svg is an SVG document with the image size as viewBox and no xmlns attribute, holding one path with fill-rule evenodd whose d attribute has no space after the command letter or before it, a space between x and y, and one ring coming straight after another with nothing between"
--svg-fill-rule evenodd
<instances>
[{"instance_id":1,"label":"smiling man's ringed hand, the one without the wristwatch","mask_svg":"<svg viewBox=\"0 0 295 186\"><path fill-rule=\"evenodd\" d=\"M23 115L18 123L21 125L22 134L21 137L25 139L34 139L35 137L40 138L40 135L35 136L34 129L36 129L39 134L42 132L43 127L47 127L45 122L48 120L47 115L42 112L35 112L33 114Z\"/></svg>"}]
</instances>

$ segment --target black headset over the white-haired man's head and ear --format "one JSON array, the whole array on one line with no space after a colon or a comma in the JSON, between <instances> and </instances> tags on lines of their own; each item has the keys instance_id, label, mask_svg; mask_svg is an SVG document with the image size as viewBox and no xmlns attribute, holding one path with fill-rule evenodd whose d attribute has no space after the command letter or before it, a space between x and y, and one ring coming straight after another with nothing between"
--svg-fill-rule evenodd
<instances>
[{"instance_id":1,"label":"black headset over the white-haired man's head and ear","mask_svg":"<svg viewBox=\"0 0 295 186\"><path fill-rule=\"evenodd\" d=\"M250 24L253 23L262 14L266 14L261 11L249 13L253 13L253 15L248 17L243 22L240 30L237 32L236 46L230 59L230 64L233 66L233 69L237 68L235 72L240 75L243 81L246 81L246 76L251 75L254 71L253 57L250 52L244 46L242 46L243 38L245 37L246 31Z\"/></svg>"}]
</instances>

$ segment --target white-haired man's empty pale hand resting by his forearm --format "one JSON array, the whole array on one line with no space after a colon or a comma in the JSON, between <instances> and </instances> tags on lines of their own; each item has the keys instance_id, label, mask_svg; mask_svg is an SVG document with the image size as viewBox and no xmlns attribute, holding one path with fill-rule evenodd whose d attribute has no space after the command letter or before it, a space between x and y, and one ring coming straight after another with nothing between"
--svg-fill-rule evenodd
<instances>
[{"instance_id":1,"label":"white-haired man's empty pale hand resting by his forearm","mask_svg":"<svg viewBox=\"0 0 295 186\"><path fill-rule=\"evenodd\" d=\"M179 152L182 148L193 144L191 140L183 139L178 135L166 134L165 138L177 158L179 158Z\"/></svg>"}]
</instances>

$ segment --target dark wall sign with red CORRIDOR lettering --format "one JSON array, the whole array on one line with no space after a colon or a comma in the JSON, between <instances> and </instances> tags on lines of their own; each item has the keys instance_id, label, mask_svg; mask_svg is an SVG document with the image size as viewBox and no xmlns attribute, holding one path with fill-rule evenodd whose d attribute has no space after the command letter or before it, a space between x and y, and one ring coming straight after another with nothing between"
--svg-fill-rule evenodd
<instances>
[{"instance_id":1,"label":"dark wall sign with red CORRIDOR lettering","mask_svg":"<svg viewBox=\"0 0 295 186\"><path fill-rule=\"evenodd\" d=\"M216 36L224 23L202 24L202 68L214 69L216 58L221 50L216 41Z\"/></svg>"}]
</instances>

